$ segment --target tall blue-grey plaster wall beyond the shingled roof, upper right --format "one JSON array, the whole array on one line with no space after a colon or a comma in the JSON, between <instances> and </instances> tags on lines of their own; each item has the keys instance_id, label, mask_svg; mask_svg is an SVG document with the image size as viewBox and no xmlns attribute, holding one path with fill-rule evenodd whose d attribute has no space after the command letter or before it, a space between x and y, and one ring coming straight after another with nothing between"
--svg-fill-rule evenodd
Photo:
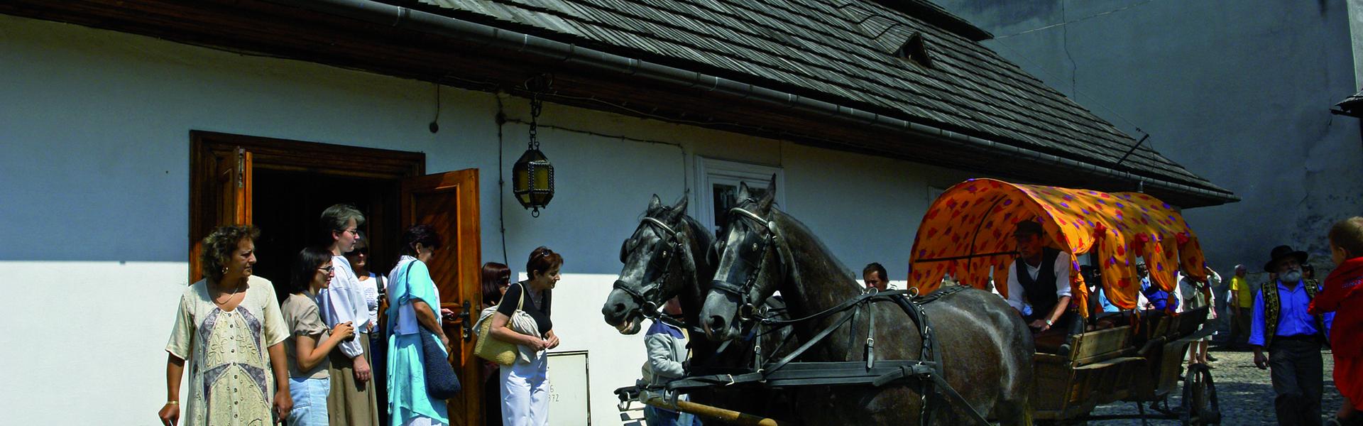
<instances>
[{"instance_id":1,"label":"tall blue-grey plaster wall beyond the shingled roof, upper right","mask_svg":"<svg viewBox=\"0 0 1363 426\"><path fill-rule=\"evenodd\" d=\"M1184 212L1219 270L1254 269L1277 244L1325 266L1326 229L1360 213L1359 122L1329 112L1359 87L1356 1L938 3L1024 71L1242 197Z\"/></svg>"}]
</instances>

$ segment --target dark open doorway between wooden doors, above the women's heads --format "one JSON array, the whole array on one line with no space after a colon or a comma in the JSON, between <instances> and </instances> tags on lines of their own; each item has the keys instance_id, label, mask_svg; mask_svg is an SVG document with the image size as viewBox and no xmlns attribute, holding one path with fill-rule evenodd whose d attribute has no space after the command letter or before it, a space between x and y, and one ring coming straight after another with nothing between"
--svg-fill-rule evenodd
<instances>
[{"instance_id":1,"label":"dark open doorway between wooden doors, above the women's heads","mask_svg":"<svg viewBox=\"0 0 1363 426\"><path fill-rule=\"evenodd\" d=\"M401 184L397 179L275 171L258 165L252 191L252 220L260 228L255 273L270 281L286 281L298 250L326 243L328 229L318 223L322 210L349 203L364 212L360 231L369 243L369 272L387 274L397 262Z\"/></svg>"}]
</instances>

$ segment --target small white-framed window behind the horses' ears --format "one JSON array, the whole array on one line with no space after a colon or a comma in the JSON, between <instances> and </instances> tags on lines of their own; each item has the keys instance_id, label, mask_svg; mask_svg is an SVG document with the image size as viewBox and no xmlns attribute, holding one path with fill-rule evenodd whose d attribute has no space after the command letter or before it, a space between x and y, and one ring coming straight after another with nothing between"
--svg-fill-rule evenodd
<instances>
[{"instance_id":1,"label":"small white-framed window behind the horses' ears","mask_svg":"<svg viewBox=\"0 0 1363 426\"><path fill-rule=\"evenodd\" d=\"M696 157L695 167L696 187L701 188L701 193L695 198L695 212L698 213L695 218L710 227L710 231L714 231L716 235L726 224L729 209L739 203L740 183L748 186L750 195L762 197L766 195L767 184L771 182L771 176L776 175L776 203L782 205L785 199L785 179L781 168L699 156Z\"/></svg>"}]
</instances>

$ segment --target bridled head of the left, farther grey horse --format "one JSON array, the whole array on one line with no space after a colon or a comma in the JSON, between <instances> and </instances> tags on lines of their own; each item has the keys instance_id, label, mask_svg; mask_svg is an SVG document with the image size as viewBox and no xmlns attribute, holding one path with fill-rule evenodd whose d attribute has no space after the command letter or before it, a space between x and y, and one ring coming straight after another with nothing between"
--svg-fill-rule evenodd
<instances>
[{"instance_id":1,"label":"bridled head of the left, farther grey horse","mask_svg":"<svg viewBox=\"0 0 1363 426\"><path fill-rule=\"evenodd\" d=\"M601 306L605 322L620 333L638 333L645 317L658 315L658 309L688 284L695 287L695 253L709 247L710 238L707 232L696 232L699 227L687 217L686 206L686 195L672 206L664 206L658 195L653 195L639 227L620 244L624 268Z\"/></svg>"}]
</instances>

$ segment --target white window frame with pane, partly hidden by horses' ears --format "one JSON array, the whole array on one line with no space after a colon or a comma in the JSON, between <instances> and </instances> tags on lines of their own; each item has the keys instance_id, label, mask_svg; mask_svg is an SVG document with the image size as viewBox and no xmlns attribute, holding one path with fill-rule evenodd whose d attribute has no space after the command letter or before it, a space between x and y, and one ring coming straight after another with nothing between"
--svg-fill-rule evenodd
<instances>
[{"instance_id":1,"label":"white window frame with pane, partly hidden by horses' ears","mask_svg":"<svg viewBox=\"0 0 1363 426\"><path fill-rule=\"evenodd\" d=\"M767 183L771 182L771 175L776 175L776 203L782 209L785 208L785 172L780 167L702 156L696 156L695 158L695 187L699 190L695 194L695 202L692 203L695 210L692 210L694 216L691 217L705 224L710 232L716 231L714 184L717 183L732 186L746 183L750 187L766 188Z\"/></svg>"}]
</instances>

